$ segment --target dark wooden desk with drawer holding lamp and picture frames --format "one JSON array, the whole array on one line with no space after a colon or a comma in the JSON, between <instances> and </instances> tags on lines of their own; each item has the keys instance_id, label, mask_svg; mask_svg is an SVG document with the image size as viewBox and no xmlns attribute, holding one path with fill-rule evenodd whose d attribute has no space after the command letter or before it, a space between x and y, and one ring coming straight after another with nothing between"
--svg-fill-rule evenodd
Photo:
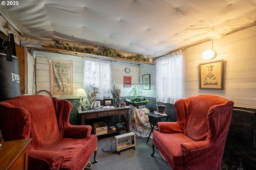
<instances>
[{"instance_id":1,"label":"dark wooden desk with drawer holding lamp and picture frames","mask_svg":"<svg viewBox=\"0 0 256 170\"><path fill-rule=\"evenodd\" d=\"M130 106L116 106L114 109L103 109L102 107L99 109L87 109L87 110L82 110L79 107L78 113L80 114L81 117L81 123L82 125L85 125L85 120L86 119L93 119L93 118L98 118L98 117L107 117L107 116L113 116L113 115L126 115L126 132L130 132L130 127L129 127L129 121L130 121ZM118 123L120 122L120 118L118 117ZM110 129L108 129L109 131Z\"/></svg>"}]
</instances>

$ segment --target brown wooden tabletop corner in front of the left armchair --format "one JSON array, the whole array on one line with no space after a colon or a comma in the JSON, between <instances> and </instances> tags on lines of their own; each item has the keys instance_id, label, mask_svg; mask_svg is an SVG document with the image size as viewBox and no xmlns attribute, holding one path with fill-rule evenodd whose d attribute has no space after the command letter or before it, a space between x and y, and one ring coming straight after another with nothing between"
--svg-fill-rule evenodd
<instances>
[{"instance_id":1,"label":"brown wooden tabletop corner in front of the left armchair","mask_svg":"<svg viewBox=\"0 0 256 170\"><path fill-rule=\"evenodd\" d=\"M27 170L28 146L32 139L20 139L1 142L0 169L1 170Z\"/></svg>"}]
</instances>

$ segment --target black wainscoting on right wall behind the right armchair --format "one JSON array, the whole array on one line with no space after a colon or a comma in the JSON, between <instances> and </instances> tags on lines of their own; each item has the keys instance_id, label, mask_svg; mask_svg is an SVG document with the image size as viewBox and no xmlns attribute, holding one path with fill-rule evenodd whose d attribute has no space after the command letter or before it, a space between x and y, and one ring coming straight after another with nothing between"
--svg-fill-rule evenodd
<instances>
[{"instance_id":1,"label":"black wainscoting on right wall behind the right armchair","mask_svg":"<svg viewBox=\"0 0 256 170\"><path fill-rule=\"evenodd\" d=\"M256 109L234 107L222 170L256 170Z\"/></svg>"}]
</instances>

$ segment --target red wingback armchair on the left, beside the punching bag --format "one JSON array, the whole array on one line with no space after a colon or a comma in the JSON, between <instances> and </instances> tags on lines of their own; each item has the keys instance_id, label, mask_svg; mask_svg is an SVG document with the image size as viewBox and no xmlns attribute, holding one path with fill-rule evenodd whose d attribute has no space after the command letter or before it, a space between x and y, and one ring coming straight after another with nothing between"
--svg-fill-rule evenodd
<instances>
[{"instance_id":1,"label":"red wingback armchair on the left, beside the punching bag","mask_svg":"<svg viewBox=\"0 0 256 170\"><path fill-rule=\"evenodd\" d=\"M97 137L89 125L69 123L72 104L42 95L18 96L0 102L4 141L32 138L28 169L82 170L94 152Z\"/></svg>"}]
</instances>

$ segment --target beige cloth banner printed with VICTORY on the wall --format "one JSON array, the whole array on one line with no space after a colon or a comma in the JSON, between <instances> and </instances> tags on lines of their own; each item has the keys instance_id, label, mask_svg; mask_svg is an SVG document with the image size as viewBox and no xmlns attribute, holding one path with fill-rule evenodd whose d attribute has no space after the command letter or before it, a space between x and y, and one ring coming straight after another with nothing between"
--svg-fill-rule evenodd
<instances>
[{"instance_id":1,"label":"beige cloth banner printed with VICTORY on the wall","mask_svg":"<svg viewBox=\"0 0 256 170\"><path fill-rule=\"evenodd\" d=\"M73 63L72 61L52 61L50 79L52 95L73 95Z\"/></svg>"}]
</instances>

